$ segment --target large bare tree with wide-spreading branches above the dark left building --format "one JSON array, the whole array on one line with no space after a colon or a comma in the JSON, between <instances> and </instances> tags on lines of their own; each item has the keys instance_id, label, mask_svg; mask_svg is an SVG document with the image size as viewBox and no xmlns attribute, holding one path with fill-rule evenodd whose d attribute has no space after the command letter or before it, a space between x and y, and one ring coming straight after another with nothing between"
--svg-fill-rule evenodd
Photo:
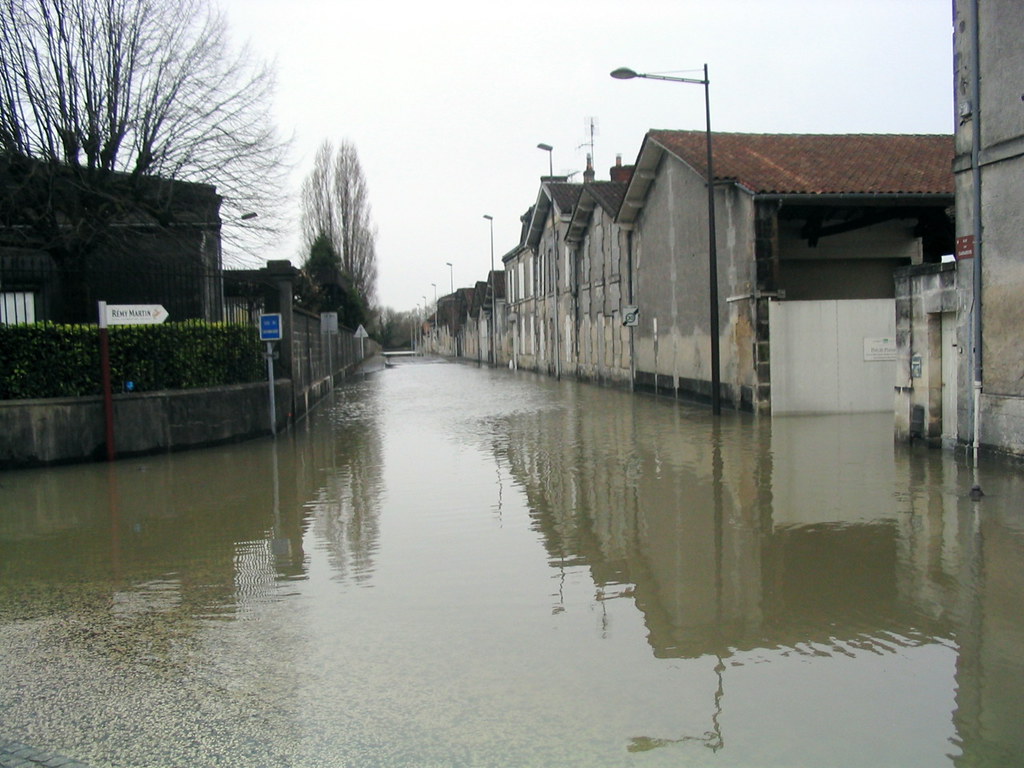
<instances>
[{"instance_id":1,"label":"large bare tree with wide-spreading branches above the dark left building","mask_svg":"<svg viewBox=\"0 0 1024 768\"><path fill-rule=\"evenodd\" d=\"M115 222L174 223L174 187L159 178L215 186L224 220L255 212L265 233L286 150L272 90L272 71L231 51L206 0L5 0L5 218L57 259L87 258Z\"/></svg>"}]
</instances>

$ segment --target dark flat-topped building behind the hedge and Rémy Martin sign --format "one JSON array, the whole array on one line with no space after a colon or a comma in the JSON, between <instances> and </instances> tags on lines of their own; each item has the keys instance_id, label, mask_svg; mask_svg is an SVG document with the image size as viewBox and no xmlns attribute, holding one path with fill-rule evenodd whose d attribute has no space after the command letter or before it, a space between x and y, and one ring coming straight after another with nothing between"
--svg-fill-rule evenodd
<instances>
[{"instance_id":1,"label":"dark flat-topped building behind the hedge and R\u00e9my Martin sign","mask_svg":"<svg viewBox=\"0 0 1024 768\"><path fill-rule=\"evenodd\" d=\"M84 189L70 170L40 168L0 156L0 323L95 322L97 301L221 318L213 186L110 174ZM97 200L94 219L67 214Z\"/></svg>"}]
</instances>

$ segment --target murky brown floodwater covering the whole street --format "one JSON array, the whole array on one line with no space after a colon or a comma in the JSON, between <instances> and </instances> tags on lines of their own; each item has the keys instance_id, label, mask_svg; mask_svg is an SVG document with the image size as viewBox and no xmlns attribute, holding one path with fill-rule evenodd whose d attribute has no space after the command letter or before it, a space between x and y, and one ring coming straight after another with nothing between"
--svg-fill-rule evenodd
<instances>
[{"instance_id":1,"label":"murky brown floodwater covering the whole street","mask_svg":"<svg viewBox=\"0 0 1024 768\"><path fill-rule=\"evenodd\" d=\"M1019 766L1024 475L891 433L409 360L275 442L0 474L0 737L96 768Z\"/></svg>"}]
</instances>

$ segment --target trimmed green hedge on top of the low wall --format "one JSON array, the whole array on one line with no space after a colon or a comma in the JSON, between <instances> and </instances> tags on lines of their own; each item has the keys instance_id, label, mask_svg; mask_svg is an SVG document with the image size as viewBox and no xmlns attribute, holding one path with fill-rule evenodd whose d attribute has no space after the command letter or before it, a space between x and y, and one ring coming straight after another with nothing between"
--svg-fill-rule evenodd
<instances>
[{"instance_id":1,"label":"trimmed green hedge on top of the low wall","mask_svg":"<svg viewBox=\"0 0 1024 768\"><path fill-rule=\"evenodd\" d=\"M250 326L165 323L110 329L115 392L190 389L259 381L266 375ZM0 399L101 392L96 326L0 326Z\"/></svg>"}]
</instances>

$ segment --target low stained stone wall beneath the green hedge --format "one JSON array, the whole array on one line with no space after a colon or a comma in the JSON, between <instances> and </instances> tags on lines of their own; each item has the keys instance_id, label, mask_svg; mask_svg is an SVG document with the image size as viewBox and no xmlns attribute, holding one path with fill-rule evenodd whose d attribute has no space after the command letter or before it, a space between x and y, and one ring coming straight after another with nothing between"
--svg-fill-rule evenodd
<instances>
[{"instance_id":1,"label":"low stained stone wall beneath the green hedge","mask_svg":"<svg viewBox=\"0 0 1024 768\"><path fill-rule=\"evenodd\" d=\"M292 382L274 384L278 428L291 416ZM269 434L265 382L114 397L118 457L216 445ZM106 456L101 397L0 401L0 468Z\"/></svg>"}]
</instances>

